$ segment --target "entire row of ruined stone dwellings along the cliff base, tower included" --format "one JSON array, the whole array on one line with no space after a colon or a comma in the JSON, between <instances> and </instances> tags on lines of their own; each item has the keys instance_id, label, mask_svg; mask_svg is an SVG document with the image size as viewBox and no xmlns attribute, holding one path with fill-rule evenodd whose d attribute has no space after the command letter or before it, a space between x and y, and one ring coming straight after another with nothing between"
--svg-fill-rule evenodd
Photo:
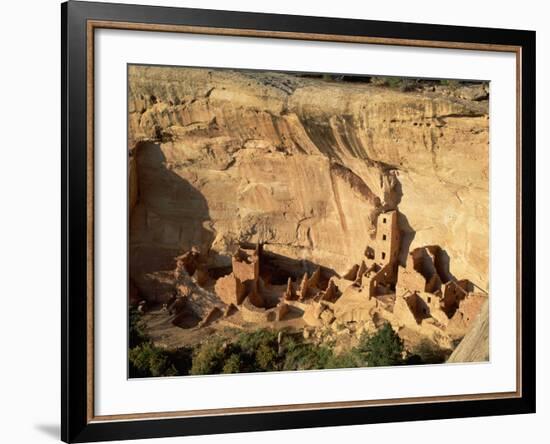
<instances>
[{"instance_id":1,"label":"entire row of ruined stone dwellings along the cliff base, tower included","mask_svg":"<svg viewBox=\"0 0 550 444\"><path fill-rule=\"evenodd\" d=\"M230 271L216 276L192 249L177 258L175 289L164 310L183 329L217 324L321 328L362 322L374 330L389 322L405 339L429 337L452 348L487 294L466 279L454 278L449 257L439 246L415 248L401 264L398 218L397 210L378 216L363 260L342 276L322 267L301 277L296 270L277 269L261 244L239 245Z\"/></svg>"}]
</instances>

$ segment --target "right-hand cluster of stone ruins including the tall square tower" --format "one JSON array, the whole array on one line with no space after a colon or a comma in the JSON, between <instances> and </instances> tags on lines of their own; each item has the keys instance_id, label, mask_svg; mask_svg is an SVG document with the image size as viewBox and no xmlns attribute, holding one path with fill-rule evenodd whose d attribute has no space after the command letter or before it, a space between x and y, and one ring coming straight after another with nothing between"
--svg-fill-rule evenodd
<instances>
[{"instance_id":1,"label":"right-hand cluster of stone ruins including the tall square tower","mask_svg":"<svg viewBox=\"0 0 550 444\"><path fill-rule=\"evenodd\" d=\"M462 337L487 300L487 293L449 271L449 257L437 245L416 248L399 263L398 212L380 214L376 238L365 259L335 280L342 290L333 311L347 322L390 322L399 331L436 337L451 348Z\"/></svg>"}]
</instances>

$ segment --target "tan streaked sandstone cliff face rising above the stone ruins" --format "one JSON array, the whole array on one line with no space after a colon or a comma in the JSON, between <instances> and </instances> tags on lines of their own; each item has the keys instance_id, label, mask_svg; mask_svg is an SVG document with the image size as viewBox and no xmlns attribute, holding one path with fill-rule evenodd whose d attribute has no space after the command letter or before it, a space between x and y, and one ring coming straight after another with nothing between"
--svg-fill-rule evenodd
<instances>
[{"instance_id":1,"label":"tan streaked sandstone cliff face rising above the stone ruins","mask_svg":"<svg viewBox=\"0 0 550 444\"><path fill-rule=\"evenodd\" d=\"M488 287L488 105L278 73L129 69L130 276L237 241L343 273L380 211ZM147 296L147 294L145 294Z\"/></svg>"}]
</instances>

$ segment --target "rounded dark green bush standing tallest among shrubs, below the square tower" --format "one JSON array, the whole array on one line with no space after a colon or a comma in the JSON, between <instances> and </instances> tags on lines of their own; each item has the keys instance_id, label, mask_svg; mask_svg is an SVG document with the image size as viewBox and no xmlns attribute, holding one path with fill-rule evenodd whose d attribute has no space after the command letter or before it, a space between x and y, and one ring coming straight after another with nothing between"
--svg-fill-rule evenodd
<instances>
[{"instance_id":1,"label":"rounded dark green bush standing tallest among shrubs, below the square tower","mask_svg":"<svg viewBox=\"0 0 550 444\"><path fill-rule=\"evenodd\" d=\"M374 335L364 333L357 347L364 354L369 367L404 364L403 340L385 323Z\"/></svg>"}]
</instances>

